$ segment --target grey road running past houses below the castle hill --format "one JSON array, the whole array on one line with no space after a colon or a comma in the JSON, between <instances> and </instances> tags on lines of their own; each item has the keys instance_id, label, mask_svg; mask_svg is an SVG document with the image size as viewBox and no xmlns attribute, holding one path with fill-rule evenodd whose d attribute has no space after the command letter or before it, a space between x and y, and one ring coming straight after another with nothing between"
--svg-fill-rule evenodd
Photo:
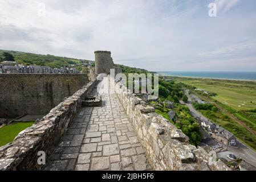
<instances>
[{"instance_id":1,"label":"grey road running past houses below the castle hill","mask_svg":"<svg viewBox=\"0 0 256 182\"><path fill-rule=\"evenodd\" d=\"M186 93L186 96L188 96L188 103L186 103L186 106L189 107L189 110L193 117L198 117L204 120L208 120L208 118L204 117L201 113L199 113L194 107L192 106L192 100L188 93ZM210 136L210 135L209 135ZM243 144L241 141L237 139L237 146L227 146L226 147L228 151L230 151L230 154L234 154L235 156L246 160L246 162L249 162L253 164L256 167L256 152L251 150L250 147L247 147L245 144Z\"/></svg>"}]
</instances>

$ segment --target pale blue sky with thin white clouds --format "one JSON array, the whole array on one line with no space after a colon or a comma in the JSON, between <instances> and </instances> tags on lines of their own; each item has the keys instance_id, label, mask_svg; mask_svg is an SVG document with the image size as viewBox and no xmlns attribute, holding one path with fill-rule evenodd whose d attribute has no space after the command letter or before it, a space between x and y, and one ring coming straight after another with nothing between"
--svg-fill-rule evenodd
<instances>
[{"instance_id":1,"label":"pale blue sky with thin white clouds","mask_svg":"<svg viewBox=\"0 0 256 182\"><path fill-rule=\"evenodd\" d=\"M89 60L108 50L149 71L256 71L256 1L0 0L0 49Z\"/></svg>"}]
</instances>

